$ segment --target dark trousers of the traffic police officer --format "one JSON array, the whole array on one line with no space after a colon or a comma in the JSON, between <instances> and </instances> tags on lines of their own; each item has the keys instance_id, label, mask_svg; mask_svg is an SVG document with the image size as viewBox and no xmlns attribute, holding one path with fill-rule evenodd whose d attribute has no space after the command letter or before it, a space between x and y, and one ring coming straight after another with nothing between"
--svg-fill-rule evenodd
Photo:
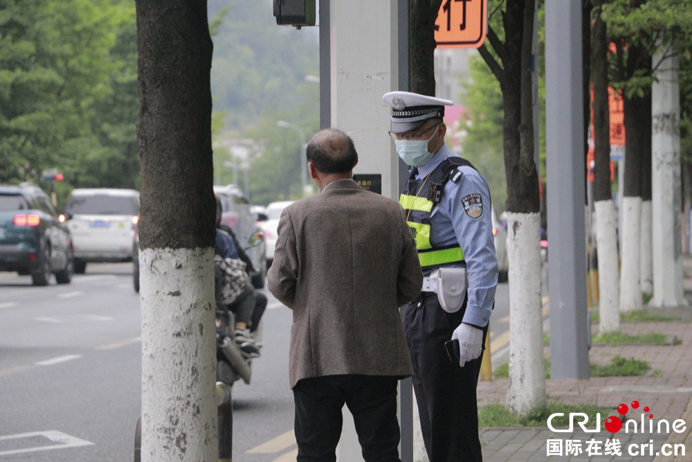
<instances>
[{"instance_id":1,"label":"dark trousers of the traffic police officer","mask_svg":"<svg viewBox=\"0 0 692 462\"><path fill-rule=\"evenodd\" d=\"M466 302L454 314L442 310L437 294L424 292L406 307L403 329L413 362L421 430L430 462L480 462L476 386L478 359L452 363L444 343L462 323ZM487 328L483 330L483 344Z\"/></svg>"}]
</instances>

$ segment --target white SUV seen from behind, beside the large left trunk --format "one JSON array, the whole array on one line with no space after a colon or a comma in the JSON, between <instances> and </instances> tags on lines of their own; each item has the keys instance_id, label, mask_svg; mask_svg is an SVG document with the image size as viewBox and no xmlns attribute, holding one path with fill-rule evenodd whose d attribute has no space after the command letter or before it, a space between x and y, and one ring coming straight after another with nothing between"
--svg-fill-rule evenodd
<instances>
[{"instance_id":1,"label":"white SUV seen from behind, beside the large left trunk","mask_svg":"<svg viewBox=\"0 0 692 462\"><path fill-rule=\"evenodd\" d=\"M131 261L139 193L133 189L75 189L65 215L75 249L75 273L89 262Z\"/></svg>"}]
</instances>

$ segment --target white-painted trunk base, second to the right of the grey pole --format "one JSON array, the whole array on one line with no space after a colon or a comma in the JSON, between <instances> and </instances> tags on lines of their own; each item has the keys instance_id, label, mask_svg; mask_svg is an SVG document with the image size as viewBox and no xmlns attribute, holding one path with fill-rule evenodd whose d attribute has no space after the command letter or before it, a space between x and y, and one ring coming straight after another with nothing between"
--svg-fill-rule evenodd
<instances>
[{"instance_id":1,"label":"white-painted trunk base, second to the right of the grey pole","mask_svg":"<svg viewBox=\"0 0 692 462\"><path fill-rule=\"evenodd\" d=\"M622 199L620 311L641 310L641 197Z\"/></svg>"}]
</instances>

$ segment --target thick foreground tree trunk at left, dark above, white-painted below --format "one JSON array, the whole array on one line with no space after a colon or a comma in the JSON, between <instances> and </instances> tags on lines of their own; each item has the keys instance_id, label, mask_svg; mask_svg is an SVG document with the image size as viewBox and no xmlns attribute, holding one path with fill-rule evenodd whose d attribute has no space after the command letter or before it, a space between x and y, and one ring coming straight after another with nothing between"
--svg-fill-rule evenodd
<instances>
[{"instance_id":1,"label":"thick foreground tree trunk at left, dark above, white-painted below","mask_svg":"<svg viewBox=\"0 0 692 462\"><path fill-rule=\"evenodd\" d=\"M206 0L137 0L143 462L219 458Z\"/></svg>"}]
</instances>

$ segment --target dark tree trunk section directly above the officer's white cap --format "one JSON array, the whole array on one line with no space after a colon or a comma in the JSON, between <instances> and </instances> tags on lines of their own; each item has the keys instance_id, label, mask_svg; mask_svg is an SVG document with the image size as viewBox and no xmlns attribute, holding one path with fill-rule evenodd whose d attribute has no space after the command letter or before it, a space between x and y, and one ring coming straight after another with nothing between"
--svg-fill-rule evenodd
<instances>
[{"instance_id":1,"label":"dark tree trunk section directly above the officer's white cap","mask_svg":"<svg viewBox=\"0 0 692 462\"><path fill-rule=\"evenodd\" d=\"M410 91L435 96L435 19L442 0L410 0Z\"/></svg>"}]
</instances>

